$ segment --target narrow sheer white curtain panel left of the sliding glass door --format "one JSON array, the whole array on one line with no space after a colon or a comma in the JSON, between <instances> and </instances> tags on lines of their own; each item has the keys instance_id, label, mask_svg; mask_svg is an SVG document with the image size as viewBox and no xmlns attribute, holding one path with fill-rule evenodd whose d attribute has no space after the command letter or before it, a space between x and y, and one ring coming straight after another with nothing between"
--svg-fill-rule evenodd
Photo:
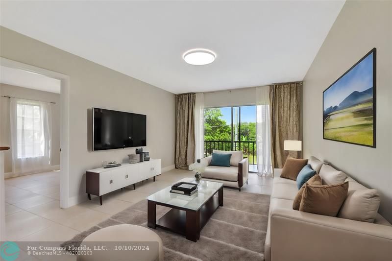
<instances>
[{"instance_id":1,"label":"narrow sheer white curtain panel left of the sliding glass door","mask_svg":"<svg viewBox=\"0 0 392 261\"><path fill-rule=\"evenodd\" d=\"M204 94L196 94L195 99L195 142L196 160L204 157Z\"/></svg>"}]
</instances>

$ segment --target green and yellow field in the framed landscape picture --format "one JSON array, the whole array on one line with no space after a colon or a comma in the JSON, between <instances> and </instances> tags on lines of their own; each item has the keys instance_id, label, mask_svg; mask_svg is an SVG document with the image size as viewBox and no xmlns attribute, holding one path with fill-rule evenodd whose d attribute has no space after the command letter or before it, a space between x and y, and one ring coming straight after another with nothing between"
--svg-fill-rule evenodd
<instances>
[{"instance_id":1,"label":"green and yellow field in the framed landscape picture","mask_svg":"<svg viewBox=\"0 0 392 261\"><path fill-rule=\"evenodd\" d=\"M364 102L328 114L324 138L373 146L373 102Z\"/></svg>"}]
</instances>

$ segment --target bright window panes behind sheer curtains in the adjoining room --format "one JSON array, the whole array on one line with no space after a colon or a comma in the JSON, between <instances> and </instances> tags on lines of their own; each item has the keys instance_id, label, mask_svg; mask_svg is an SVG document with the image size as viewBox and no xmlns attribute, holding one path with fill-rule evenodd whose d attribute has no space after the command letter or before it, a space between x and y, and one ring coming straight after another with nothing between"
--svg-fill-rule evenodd
<instances>
[{"instance_id":1,"label":"bright window panes behind sheer curtains in the adjoining room","mask_svg":"<svg viewBox=\"0 0 392 261\"><path fill-rule=\"evenodd\" d=\"M17 103L18 159L44 156L41 108L39 105Z\"/></svg>"}]
</instances>

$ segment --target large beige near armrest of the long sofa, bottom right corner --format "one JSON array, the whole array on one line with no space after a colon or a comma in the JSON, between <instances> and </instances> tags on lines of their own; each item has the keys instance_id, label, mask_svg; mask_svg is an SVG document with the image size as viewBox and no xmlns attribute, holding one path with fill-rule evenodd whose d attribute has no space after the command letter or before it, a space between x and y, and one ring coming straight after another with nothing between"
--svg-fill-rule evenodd
<instances>
[{"instance_id":1,"label":"large beige near armrest of the long sofa, bottom right corner","mask_svg":"<svg viewBox=\"0 0 392 261\"><path fill-rule=\"evenodd\" d=\"M391 258L391 226L282 208L271 211L270 222L271 261Z\"/></svg>"}]
</instances>

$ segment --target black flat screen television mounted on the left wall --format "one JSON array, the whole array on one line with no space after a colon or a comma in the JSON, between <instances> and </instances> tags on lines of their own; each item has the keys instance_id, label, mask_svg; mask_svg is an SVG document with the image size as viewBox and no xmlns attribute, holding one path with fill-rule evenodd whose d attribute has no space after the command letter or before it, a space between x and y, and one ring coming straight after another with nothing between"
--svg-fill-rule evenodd
<instances>
[{"instance_id":1,"label":"black flat screen television mounted on the left wall","mask_svg":"<svg viewBox=\"0 0 392 261\"><path fill-rule=\"evenodd\" d=\"M146 115L93 108L93 150L146 146Z\"/></svg>"}]
</instances>

